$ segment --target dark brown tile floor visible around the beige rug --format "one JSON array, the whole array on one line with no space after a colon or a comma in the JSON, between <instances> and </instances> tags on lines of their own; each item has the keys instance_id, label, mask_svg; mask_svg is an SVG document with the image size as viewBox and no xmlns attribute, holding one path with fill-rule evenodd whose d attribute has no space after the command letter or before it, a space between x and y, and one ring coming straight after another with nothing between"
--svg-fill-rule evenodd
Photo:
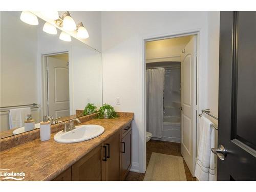
<instances>
[{"instance_id":1,"label":"dark brown tile floor visible around the beige rug","mask_svg":"<svg viewBox=\"0 0 256 192\"><path fill-rule=\"evenodd\" d=\"M150 140L146 143L146 166L150 162L152 152L162 153L166 155L182 156L180 153L180 143ZM196 181L183 160L187 181ZM142 173L129 172L126 181L143 181L144 175Z\"/></svg>"}]
</instances>

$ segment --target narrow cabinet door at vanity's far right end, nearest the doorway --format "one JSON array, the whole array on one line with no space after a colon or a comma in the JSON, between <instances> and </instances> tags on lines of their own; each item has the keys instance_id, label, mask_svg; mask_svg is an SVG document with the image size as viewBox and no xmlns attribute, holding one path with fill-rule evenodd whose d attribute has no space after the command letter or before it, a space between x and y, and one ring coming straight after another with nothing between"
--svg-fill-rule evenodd
<instances>
[{"instance_id":1,"label":"narrow cabinet door at vanity's far right end, nearest the doorway","mask_svg":"<svg viewBox=\"0 0 256 192\"><path fill-rule=\"evenodd\" d=\"M132 131L121 140L121 180L124 180L132 165Z\"/></svg>"}]
</instances>

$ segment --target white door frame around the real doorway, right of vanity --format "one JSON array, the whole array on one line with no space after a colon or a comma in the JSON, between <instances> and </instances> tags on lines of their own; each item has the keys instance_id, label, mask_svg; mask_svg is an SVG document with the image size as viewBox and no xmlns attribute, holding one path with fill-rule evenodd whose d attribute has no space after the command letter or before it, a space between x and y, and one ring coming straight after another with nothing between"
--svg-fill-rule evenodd
<instances>
[{"instance_id":1,"label":"white door frame around the real doorway, right of vanity","mask_svg":"<svg viewBox=\"0 0 256 192\"><path fill-rule=\"evenodd\" d=\"M161 39L168 39L168 38L175 38L175 37L183 37L183 36L189 36L189 35L197 35L197 65L196 65L196 94L194 95L196 97L196 121L195 121L195 132L194 132L194 151L196 152L197 148L197 138L199 138L197 133L197 127L198 127L198 111L200 109L201 103L199 102L199 66L200 66L200 53L199 53L199 39L200 39L201 30L200 29L193 29L193 30L187 30L177 33L170 33L170 34L163 34L163 35L155 35L155 36L148 36L142 38L142 126L143 131L140 133L140 140L139 140L139 162L140 162L140 172L144 173L146 170L146 82L145 82L145 72L146 72L146 53L145 53L145 43L147 41L153 41L153 40L161 40ZM196 161L196 154L195 153L195 161ZM194 173L191 173L194 175Z\"/></svg>"}]
</instances>

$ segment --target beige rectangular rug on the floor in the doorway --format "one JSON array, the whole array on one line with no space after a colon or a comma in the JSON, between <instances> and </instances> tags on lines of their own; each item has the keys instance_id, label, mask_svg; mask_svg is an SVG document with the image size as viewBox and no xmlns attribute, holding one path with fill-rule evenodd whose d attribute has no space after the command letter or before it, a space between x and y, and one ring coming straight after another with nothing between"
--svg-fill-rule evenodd
<instances>
[{"instance_id":1,"label":"beige rectangular rug on the floor in the doorway","mask_svg":"<svg viewBox=\"0 0 256 192\"><path fill-rule=\"evenodd\" d=\"M186 181L183 158L152 153L144 181Z\"/></svg>"}]
</instances>

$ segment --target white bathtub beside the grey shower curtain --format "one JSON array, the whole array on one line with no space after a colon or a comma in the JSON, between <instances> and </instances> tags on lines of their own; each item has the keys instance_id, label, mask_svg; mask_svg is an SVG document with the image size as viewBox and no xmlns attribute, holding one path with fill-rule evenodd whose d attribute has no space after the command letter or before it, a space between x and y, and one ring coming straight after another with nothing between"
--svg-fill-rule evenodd
<instances>
[{"instance_id":1,"label":"white bathtub beside the grey shower curtain","mask_svg":"<svg viewBox=\"0 0 256 192\"><path fill-rule=\"evenodd\" d=\"M152 139L180 143L180 117L164 116L163 137Z\"/></svg>"}]
</instances>

